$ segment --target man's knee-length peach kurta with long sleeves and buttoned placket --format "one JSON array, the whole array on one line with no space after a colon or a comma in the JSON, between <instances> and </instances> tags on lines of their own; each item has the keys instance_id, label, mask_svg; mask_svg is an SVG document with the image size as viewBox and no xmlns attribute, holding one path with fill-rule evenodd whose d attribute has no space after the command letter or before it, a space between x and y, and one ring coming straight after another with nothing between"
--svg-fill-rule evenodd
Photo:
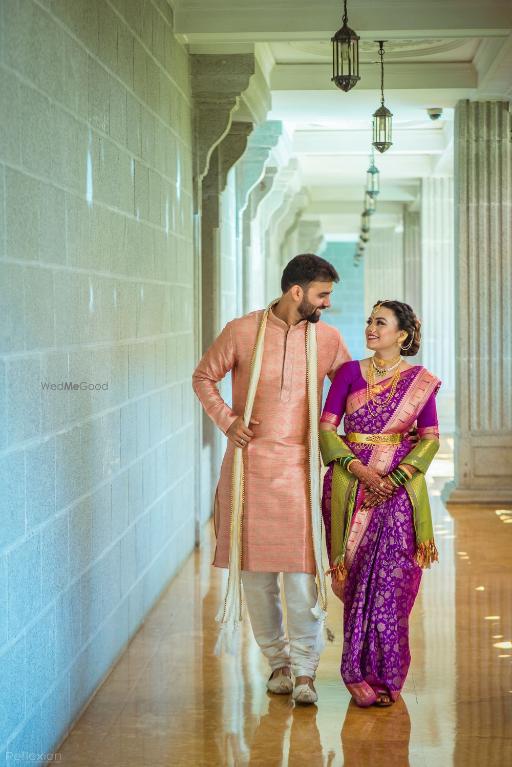
<instances>
[{"instance_id":1,"label":"man's knee-length peach kurta with long sleeves and buttoned placket","mask_svg":"<svg viewBox=\"0 0 512 767\"><path fill-rule=\"evenodd\" d=\"M263 310L228 322L192 376L192 386L208 416L225 433L243 416L251 357ZM269 311L264 353L252 416L254 437L243 449L244 515L242 570L316 572L309 494L309 435L306 375L307 321L288 326ZM316 324L318 385L350 360L340 332ZM216 386L231 370L232 409ZM236 448L240 449L240 448ZM227 568L231 518L231 475L235 446L228 442L215 494L213 564Z\"/></svg>"}]
</instances>

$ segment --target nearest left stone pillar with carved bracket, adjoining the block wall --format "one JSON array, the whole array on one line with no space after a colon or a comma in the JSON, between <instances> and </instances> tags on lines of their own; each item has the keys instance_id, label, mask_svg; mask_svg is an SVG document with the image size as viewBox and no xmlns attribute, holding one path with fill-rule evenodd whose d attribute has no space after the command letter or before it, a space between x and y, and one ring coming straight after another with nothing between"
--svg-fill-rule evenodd
<instances>
[{"instance_id":1,"label":"nearest left stone pillar with carved bracket, adjoining the block wall","mask_svg":"<svg viewBox=\"0 0 512 767\"><path fill-rule=\"evenodd\" d=\"M264 120L270 91L252 54L190 56L193 98L193 163L195 219L195 307L199 332L195 357L221 330L221 195L228 170L245 151L253 124ZM234 123L234 116L238 122ZM226 273L226 272L225 272ZM223 452L223 440L197 403L196 544L212 514L213 491Z\"/></svg>"}]
</instances>

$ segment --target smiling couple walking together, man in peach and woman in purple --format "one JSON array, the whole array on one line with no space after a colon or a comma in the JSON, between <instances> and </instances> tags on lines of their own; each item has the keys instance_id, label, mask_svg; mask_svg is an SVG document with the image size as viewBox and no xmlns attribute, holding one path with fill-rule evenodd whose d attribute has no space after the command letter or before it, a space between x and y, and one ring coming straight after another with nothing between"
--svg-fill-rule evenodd
<instances>
[{"instance_id":1,"label":"smiling couple walking together, man in peach and woman in purple","mask_svg":"<svg viewBox=\"0 0 512 767\"><path fill-rule=\"evenodd\" d=\"M440 381L401 359L418 352L420 330L399 301L373 307L373 357L351 360L339 331L320 322L339 279L323 258L297 255L284 268L281 298L228 322L192 376L228 437L214 502L213 565L228 568L215 653L236 652L243 584L271 667L267 690L318 700L324 630L333 639L323 515L327 574L344 602L343 681L358 706L388 706L409 669L409 612L422 568L437 559L424 474L438 450ZM232 407L216 386L229 371ZM326 376L332 385L320 417ZM338 436L343 416L346 436ZM323 495L320 451L329 466Z\"/></svg>"}]
</instances>

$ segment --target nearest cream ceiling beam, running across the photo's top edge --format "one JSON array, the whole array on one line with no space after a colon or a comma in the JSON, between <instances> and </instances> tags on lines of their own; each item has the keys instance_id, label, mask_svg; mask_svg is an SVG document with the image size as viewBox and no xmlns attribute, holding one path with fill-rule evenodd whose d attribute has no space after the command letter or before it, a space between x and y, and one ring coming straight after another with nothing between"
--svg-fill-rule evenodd
<instances>
[{"instance_id":1,"label":"nearest cream ceiling beam, running across the photo's top edge","mask_svg":"<svg viewBox=\"0 0 512 767\"><path fill-rule=\"evenodd\" d=\"M230 42L330 39L341 26L339 0L179 0L174 23L182 41ZM358 0L350 27L364 39L507 37L509 0Z\"/></svg>"}]
</instances>

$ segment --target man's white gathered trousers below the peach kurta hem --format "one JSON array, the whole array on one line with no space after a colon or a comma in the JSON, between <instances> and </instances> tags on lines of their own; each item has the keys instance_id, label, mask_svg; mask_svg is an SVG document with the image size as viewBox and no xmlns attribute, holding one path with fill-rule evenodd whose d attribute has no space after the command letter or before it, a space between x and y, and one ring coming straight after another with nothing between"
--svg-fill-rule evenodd
<instances>
[{"instance_id":1,"label":"man's white gathered trousers below the peach kurta hem","mask_svg":"<svg viewBox=\"0 0 512 767\"><path fill-rule=\"evenodd\" d=\"M283 573L288 636L284 630L279 573L242 571L245 602L261 652L272 671L290 666L294 676L313 680L320 656L313 652L318 622L311 612L317 604L312 573ZM289 638L288 638L289 637Z\"/></svg>"}]
</instances>

